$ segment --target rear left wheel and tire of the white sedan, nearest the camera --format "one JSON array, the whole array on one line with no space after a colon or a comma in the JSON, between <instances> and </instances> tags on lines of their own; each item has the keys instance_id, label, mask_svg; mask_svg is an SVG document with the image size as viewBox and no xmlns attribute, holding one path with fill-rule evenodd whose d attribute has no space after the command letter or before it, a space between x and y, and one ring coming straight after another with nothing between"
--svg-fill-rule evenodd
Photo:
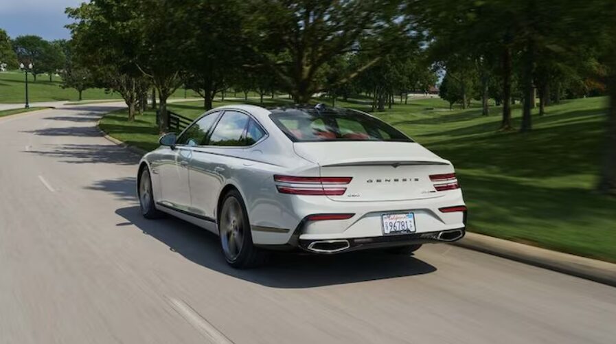
<instances>
[{"instance_id":1,"label":"rear left wheel and tire of the white sedan, nearest the camera","mask_svg":"<svg viewBox=\"0 0 616 344\"><path fill-rule=\"evenodd\" d=\"M220 204L218 234L227 263L233 268L253 268L264 264L267 255L253 244L248 212L240 192L227 192Z\"/></svg>"}]
</instances>

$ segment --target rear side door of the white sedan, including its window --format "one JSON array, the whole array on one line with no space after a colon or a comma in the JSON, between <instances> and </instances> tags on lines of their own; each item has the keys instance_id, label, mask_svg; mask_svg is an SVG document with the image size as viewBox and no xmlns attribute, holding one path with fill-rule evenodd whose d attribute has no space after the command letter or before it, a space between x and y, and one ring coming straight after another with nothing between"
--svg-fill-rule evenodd
<instances>
[{"instance_id":1,"label":"rear side door of the white sedan, including its window","mask_svg":"<svg viewBox=\"0 0 616 344\"><path fill-rule=\"evenodd\" d=\"M194 152L200 173L190 176L192 208L201 216L216 218L220 190L234 170L243 167L240 156L264 136L264 130L246 113L225 111L207 146ZM196 169L195 169L196 170Z\"/></svg>"}]
</instances>

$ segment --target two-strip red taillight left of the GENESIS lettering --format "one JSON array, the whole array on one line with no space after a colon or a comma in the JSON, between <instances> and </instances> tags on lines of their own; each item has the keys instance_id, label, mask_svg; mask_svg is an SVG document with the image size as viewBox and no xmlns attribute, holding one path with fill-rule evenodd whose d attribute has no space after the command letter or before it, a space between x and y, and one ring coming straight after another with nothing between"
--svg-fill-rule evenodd
<instances>
[{"instance_id":1,"label":"two-strip red taillight left of the GENESIS lettering","mask_svg":"<svg viewBox=\"0 0 616 344\"><path fill-rule=\"evenodd\" d=\"M274 176L278 192L293 195L341 196L352 177L346 176Z\"/></svg>"}]
</instances>

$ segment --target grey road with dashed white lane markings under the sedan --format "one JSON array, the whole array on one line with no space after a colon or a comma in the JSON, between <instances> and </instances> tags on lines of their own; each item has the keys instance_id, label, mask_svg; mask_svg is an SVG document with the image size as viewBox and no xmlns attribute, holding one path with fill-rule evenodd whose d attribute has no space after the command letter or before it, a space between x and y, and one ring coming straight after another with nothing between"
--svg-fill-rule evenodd
<instances>
[{"instance_id":1,"label":"grey road with dashed white lane markings under the sedan","mask_svg":"<svg viewBox=\"0 0 616 344\"><path fill-rule=\"evenodd\" d=\"M615 343L616 288L445 244L229 268L144 220L113 108L0 119L0 343Z\"/></svg>"}]
</instances>

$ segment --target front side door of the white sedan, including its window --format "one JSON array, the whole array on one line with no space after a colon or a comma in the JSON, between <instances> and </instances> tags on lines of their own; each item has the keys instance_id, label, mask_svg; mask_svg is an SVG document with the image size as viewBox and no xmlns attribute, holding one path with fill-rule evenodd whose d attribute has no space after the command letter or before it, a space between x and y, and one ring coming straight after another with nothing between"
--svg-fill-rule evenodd
<instances>
[{"instance_id":1,"label":"front side door of the white sedan, including its window","mask_svg":"<svg viewBox=\"0 0 616 344\"><path fill-rule=\"evenodd\" d=\"M161 203L180 211L191 211L190 170L194 148L202 145L220 112L209 113L181 133L176 145L169 148L165 163L159 168Z\"/></svg>"}]
</instances>

